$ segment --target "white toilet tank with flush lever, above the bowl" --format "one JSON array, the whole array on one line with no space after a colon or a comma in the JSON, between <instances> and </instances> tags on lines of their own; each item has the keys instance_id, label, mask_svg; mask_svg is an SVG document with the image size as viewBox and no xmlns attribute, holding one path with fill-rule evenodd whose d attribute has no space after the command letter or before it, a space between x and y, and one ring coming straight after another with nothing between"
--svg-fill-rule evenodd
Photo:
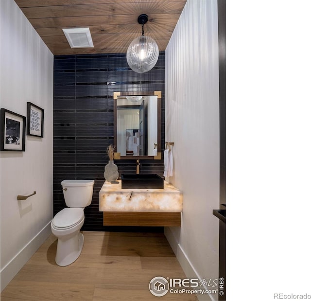
<instances>
[{"instance_id":1,"label":"white toilet tank with flush lever, above the bowl","mask_svg":"<svg viewBox=\"0 0 311 301\"><path fill-rule=\"evenodd\" d=\"M83 208L91 203L94 180L63 180L62 186L68 207Z\"/></svg>"}]
</instances>

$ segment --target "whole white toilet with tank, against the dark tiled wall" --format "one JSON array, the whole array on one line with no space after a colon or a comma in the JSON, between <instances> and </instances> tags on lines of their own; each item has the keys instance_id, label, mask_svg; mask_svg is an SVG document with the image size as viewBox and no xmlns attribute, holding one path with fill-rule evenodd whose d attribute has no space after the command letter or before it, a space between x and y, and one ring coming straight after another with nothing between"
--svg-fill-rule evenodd
<instances>
[{"instance_id":1,"label":"whole white toilet with tank, against the dark tiled wall","mask_svg":"<svg viewBox=\"0 0 311 301\"><path fill-rule=\"evenodd\" d=\"M72 264L81 254L84 237L84 208L90 205L94 180L62 181L66 205L52 219L52 233L58 238L55 262L58 266Z\"/></svg>"}]
</instances>

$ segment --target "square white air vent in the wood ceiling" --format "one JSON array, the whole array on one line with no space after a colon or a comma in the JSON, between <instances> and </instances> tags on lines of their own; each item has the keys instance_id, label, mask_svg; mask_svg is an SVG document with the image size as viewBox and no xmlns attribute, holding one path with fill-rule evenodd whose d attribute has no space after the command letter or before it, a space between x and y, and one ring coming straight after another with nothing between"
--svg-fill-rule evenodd
<instances>
[{"instance_id":1,"label":"square white air vent in the wood ceiling","mask_svg":"<svg viewBox=\"0 0 311 301\"><path fill-rule=\"evenodd\" d=\"M66 28L63 29L71 48L94 47L89 28Z\"/></svg>"}]
</instances>

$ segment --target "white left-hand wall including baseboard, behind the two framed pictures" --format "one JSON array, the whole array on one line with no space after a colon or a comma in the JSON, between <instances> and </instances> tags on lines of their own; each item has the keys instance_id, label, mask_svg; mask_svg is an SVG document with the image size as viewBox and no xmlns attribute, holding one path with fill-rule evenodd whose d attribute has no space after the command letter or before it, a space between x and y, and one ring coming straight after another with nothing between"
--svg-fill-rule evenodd
<instances>
[{"instance_id":1,"label":"white left-hand wall including baseboard, behind the two framed pictures","mask_svg":"<svg viewBox=\"0 0 311 301\"><path fill-rule=\"evenodd\" d=\"M50 233L53 55L14 0L1 0L0 13L0 106L23 116L27 102L44 109L44 138L26 136L25 152L1 152L2 290Z\"/></svg>"}]
</instances>

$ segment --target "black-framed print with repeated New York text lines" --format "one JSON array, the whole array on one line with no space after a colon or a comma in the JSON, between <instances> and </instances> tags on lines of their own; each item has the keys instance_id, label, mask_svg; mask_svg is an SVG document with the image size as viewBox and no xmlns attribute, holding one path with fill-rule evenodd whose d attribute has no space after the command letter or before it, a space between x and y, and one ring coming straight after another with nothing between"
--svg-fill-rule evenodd
<instances>
[{"instance_id":1,"label":"black-framed print with repeated New York text lines","mask_svg":"<svg viewBox=\"0 0 311 301\"><path fill-rule=\"evenodd\" d=\"M43 137L43 117L41 107L27 103L27 135Z\"/></svg>"}]
</instances>

